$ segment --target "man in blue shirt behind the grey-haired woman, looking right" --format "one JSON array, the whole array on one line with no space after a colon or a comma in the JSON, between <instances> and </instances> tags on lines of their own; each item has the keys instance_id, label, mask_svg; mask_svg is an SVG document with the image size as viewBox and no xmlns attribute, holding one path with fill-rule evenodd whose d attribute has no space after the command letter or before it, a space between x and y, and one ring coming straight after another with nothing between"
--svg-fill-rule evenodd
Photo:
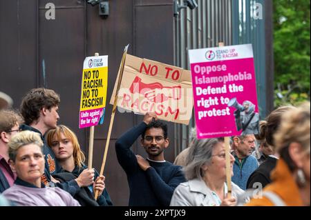
<instances>
[{"instance_id":1,"label":"man in blue shirt behind the grey-haired woman, looking right","mask_svg":"<svg viewBox=\"0 0 311 220\"><path fill-rule=\"evenodd\" d=\"M254 134L232 137L232 150L234 150L234 176L232 181L242 190L246 190L247 179L258 168L256 157L252 156L255 148Z\"/></svg>"}]
</instances>

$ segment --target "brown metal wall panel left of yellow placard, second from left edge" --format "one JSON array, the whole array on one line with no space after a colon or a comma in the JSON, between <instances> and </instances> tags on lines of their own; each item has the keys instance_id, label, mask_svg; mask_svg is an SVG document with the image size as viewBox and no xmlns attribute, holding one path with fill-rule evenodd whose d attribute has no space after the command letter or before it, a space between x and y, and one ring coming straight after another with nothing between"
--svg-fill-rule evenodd
<instances>
[{"instance_id":1,"label":"brown metal wall panel left of yellow placard, second from left edge","mask_svg":"<svg viewBox=\"0 0 311 220\"><path fill-rule=\"evenodd\" d=\"M39 10L39 76L41 85L60 94L59 123L72 128L84 149L85 130L79 130L79 100L84 61L84 8L56 10L47 20Z\"/></svg>"}]
</instances>

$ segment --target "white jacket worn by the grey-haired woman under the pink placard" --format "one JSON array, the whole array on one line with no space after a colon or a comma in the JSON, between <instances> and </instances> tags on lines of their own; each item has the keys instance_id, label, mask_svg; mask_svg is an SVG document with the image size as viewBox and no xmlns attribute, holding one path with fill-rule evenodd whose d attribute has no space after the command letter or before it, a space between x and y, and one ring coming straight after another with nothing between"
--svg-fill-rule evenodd
<instances>
[{"instance_id":1,"label":"white jacket worn by the grey-haired woman under the pink placard","mask_svg":"<svg viewBox=\"0 0 311 220\"><path fill-rule=\"evenodd\" d=\"M225 194L227 194L227 184L225 184ZM232 183L232 197L237 199L244 190ZM173 192L170 206L220 206L221 200L209 187L205 181L191 179L180 185Z\"/></svg>"}]
</instances>

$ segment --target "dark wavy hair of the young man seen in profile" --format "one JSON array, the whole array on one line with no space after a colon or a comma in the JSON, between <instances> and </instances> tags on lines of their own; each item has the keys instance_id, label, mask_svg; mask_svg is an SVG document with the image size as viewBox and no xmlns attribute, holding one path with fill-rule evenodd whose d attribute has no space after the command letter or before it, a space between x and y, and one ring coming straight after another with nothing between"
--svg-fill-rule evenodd
<instances>
[{"instance_id":1,"label":"dark wavy hair of the young man seen in profile","mask_svg":"<svg viewBox=\"0 0 311 220\"><path fill-rule=\"evenodd\" d=\"M39 119L39 112L42 108L50 110L50 108L58 106L59 103L59 94L54 90L34 88L30 90L21 101L21 115L26 125L30 125L30 123Z\"/></svg>"}]
</instances>

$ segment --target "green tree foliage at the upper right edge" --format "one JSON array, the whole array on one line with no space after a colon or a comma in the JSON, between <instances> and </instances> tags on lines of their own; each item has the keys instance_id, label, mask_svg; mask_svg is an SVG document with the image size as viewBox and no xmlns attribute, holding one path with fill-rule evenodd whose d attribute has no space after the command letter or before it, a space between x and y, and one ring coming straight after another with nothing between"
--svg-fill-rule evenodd
<instances>
[{"instance_id":1,"label":"green tree foliage at the upper right edge","mask_svg":"<svg viewBox=\"0 0 311 220\"><path fill-rule=\"evenodd\" d=\"M274 0L275 106L310 100L310 0Z\"/></svg>"}]
</instances>

